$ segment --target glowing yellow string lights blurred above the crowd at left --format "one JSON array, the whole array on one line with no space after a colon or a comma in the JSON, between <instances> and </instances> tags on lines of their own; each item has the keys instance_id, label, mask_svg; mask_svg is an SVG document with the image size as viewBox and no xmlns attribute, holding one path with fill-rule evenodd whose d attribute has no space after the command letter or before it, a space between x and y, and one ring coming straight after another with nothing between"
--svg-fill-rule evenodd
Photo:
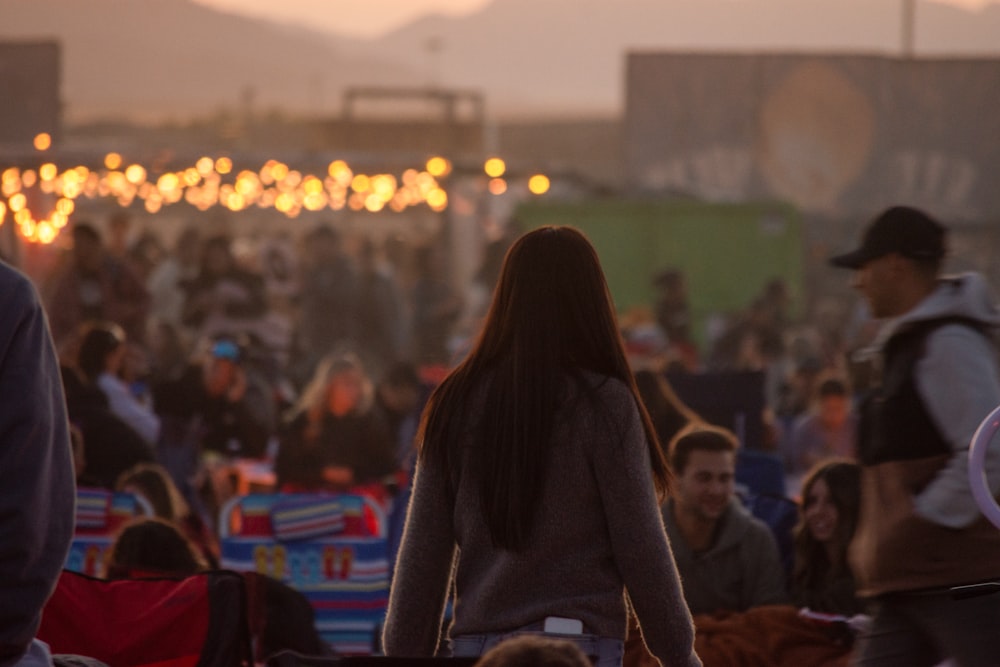
<instances>
[{"instance_id":1,"label":"glowing yellow string lights blurred above the crowd at left","mask_svg":"<svg viewBox=\"0 0 1000 667\"><path fill-rule=\"evenodd\" d=\"M48 134L35 137L39 151L47 151L51 143ZM345 207L376 213L426 205L443 212L448 207L448 193L442 181L452 170L452 163L440 156L428 159L421 169L406 169L399 177L357 173L344 160L330 162L321 174L303 173L273 159L257 169L237 171L233 160L225 156L203 156L190 166L159 174L141 164L126 163L119 153L105 155L99 169L83 165L60 168L54 162L45 162L37 169L0 165L0 225L10 217L25 241L52 243L68 224L80 197L109 198L122 207L140 201L151 214L182 201L202 211L214 206L231 211L273 208L289 218L298 217L303 210ZM483 171L490 178L490 193L506 192L502 159L488 159ZM528 179L533 194L544 194L549 186L549 179L542 174ZM43 207L47 214L36 216L35 211Z\"/></svg>"}]
</instances>

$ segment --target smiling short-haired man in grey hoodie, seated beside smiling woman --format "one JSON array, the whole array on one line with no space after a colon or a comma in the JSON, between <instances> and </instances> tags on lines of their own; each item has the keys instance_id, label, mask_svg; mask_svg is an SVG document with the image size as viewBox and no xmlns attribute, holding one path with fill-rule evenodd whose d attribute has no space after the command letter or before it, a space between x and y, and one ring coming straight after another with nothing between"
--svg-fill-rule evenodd
<instances>
[{"instance_id":1,"label":"smiling short-haired man in grey hoodie, seated beside smiling woman","mask_svg":"<svg viewBox=\"0 0 1000 667\"><path fill-rule=\"evenodd\" d=\"M732 432L705 424L670 444L674 493L663 521L692 614L788 601L770 528L736 498L738 446Z\"/></svg>"}]
</instances>

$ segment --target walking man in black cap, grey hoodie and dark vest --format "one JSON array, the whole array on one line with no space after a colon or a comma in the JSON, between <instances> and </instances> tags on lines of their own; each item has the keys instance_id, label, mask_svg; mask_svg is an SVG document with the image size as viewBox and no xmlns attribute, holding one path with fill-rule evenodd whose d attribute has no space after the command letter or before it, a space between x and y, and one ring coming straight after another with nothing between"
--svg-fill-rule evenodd
<instances>
[{"instance_id":1,"label":"walking man in black cap, grey hoodie and dark vest","mask_svg":"<svg viewBox=\"0 0 1000 667\"><path fill-rule=\"evenodd\" d=\"M1000 531L969 490L968 446L1000 403L994 300L978 274L942 277L945 229L897 206L861 247L833 257L885 322L874 343L880 386L861 407L861 514L850 562L872 625L857 664L1000 664L1000 595L951 587L1000 578ZM997 452L987 461L1000 488Z\"/></svg>"}]
</instances>

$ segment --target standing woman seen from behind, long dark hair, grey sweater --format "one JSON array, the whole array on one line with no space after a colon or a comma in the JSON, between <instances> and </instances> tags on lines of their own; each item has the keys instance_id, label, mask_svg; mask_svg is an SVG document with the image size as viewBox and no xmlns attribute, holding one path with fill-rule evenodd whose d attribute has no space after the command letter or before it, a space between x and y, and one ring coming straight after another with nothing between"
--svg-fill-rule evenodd
<instances>
[{"instance_id":1,"label":"standing woman seen from behind, long dark hair, grey sweater","mask_svg":"<svg viewBox=\"0 0 1000 667\"><path fill-rule=\"evenodd\" d=\"M511 246L479 338L432 395L417 442L388 655L481 655L549 633L620 665L627 592L653 655L701 664L660 518L668 468L580 232L543 227Z\"/></svg>"}]
</instances>

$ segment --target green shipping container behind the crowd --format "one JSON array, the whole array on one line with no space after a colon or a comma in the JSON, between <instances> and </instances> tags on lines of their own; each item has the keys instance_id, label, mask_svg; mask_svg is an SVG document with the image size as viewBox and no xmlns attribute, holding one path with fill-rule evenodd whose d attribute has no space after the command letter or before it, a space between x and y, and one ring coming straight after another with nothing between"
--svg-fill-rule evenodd
<instances>
[{"instance_id":1,"label":"green shipping container behind the crowd","mask_svg":"<svg viewBox=\"0 0 1000 667\"><path fill-rule=\"evenodd\" d=\"M586 234L619 313L652 306L653 276L680 269L702 347L710 318L743 310L772 279L788 285L793 316L802 306L802 221L786 204L538 200L515 219L523 231L570 225Z\"/></svg>"}]
</instances>

